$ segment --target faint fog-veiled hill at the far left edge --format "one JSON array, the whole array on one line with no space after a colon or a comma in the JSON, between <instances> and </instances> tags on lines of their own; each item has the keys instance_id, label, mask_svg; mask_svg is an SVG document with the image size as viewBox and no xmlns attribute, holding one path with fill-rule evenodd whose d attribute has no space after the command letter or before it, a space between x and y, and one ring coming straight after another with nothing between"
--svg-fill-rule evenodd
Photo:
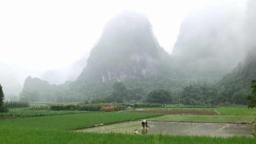
<instances>
[{"instance_id":1,"label":"faint fog-veiled hill at the far left edge","mask_svg":"<svg viewBox=\"0 0 256 144\"><path fill-rule=\"evenodd\" d=\"M18 83L14 73L9 66L0 63L0 84L3 87L3 93L7 95L19 95L22 90L22 85Z\"/></svg>"}]
</instances>

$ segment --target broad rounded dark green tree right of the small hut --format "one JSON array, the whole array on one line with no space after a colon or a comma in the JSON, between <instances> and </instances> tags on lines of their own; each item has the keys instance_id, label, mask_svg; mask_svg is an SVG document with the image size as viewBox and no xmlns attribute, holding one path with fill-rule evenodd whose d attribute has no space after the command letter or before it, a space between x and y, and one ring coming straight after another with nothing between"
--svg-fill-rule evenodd
<instances>
[{"instance_id":1,"label":"broad rounded dark green tree right of the small hut","mask_svg":"<svg viewBox=\"0 0 256 144\"><path fill-rule=\"evenodd\" d=\"M172 97L171 93L166 89L153 89L146 97L148 103L160 103L160 104L171 104Z\"/></svg>"}]
</instances>

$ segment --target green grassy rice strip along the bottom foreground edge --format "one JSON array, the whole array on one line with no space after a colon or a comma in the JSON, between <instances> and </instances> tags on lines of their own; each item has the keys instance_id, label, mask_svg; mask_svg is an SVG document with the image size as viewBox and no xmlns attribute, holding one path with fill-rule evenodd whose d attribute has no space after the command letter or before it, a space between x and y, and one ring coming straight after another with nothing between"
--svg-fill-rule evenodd
<instances>
[{"instance_id":1,"label":"green grassy rice strip along the bottom foreground edge","mask_svg":"<svg viewBox=\"0 0 256 144\"><path fill-rule=\"evenodd\" d=\"M254 144L255 137L134 135L123 133L85 133L40 128L1 126L3 144Z\"/></svg>"}]
</instances>

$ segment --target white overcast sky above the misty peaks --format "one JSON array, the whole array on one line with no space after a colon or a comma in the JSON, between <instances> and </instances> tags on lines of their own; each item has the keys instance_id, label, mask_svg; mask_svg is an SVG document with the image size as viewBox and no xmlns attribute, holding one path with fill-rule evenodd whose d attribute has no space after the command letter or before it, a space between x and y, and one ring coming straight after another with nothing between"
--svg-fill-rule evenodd
<instances>
[{"instance_id":1,"label":"white overcast sky above the misty peaks","mask_svg":"<svg viewBox=\"0 0 256 144\"><path fill-rule=\"evenodd\" d=\"M104 24L124 10L145 13L159 44L171 54L186 14L216 1L0 0L0 60L21 84L28 75L62 69L88 52ZM234 1L245 8L247 0Z\"/></svg>"}]
</instances>

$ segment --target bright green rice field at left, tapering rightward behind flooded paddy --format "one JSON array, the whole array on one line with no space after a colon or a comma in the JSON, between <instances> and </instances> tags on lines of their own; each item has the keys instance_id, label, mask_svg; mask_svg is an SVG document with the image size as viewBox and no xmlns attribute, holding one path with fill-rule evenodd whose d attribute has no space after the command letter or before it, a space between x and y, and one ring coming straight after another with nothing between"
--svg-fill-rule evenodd
<instances>
[{"instance_id":1,"label":"bright green rice field at left, tapering rightward behind flooded paddy","mask_svg":"<svg viewBox=\"0 0 256 144\"><path fill-rule=\"evenodd\" d=\"M24 119L0 120L0 126L12 125L26 128L42 128L57 130L72 130L91 126L100 123L114 123L120 121L143 119L153 116L159 116L159 113L118 113L118 112L101 112L85 113L72 115L58 115L33 117Z\"/></svg>"}]
</instances>

